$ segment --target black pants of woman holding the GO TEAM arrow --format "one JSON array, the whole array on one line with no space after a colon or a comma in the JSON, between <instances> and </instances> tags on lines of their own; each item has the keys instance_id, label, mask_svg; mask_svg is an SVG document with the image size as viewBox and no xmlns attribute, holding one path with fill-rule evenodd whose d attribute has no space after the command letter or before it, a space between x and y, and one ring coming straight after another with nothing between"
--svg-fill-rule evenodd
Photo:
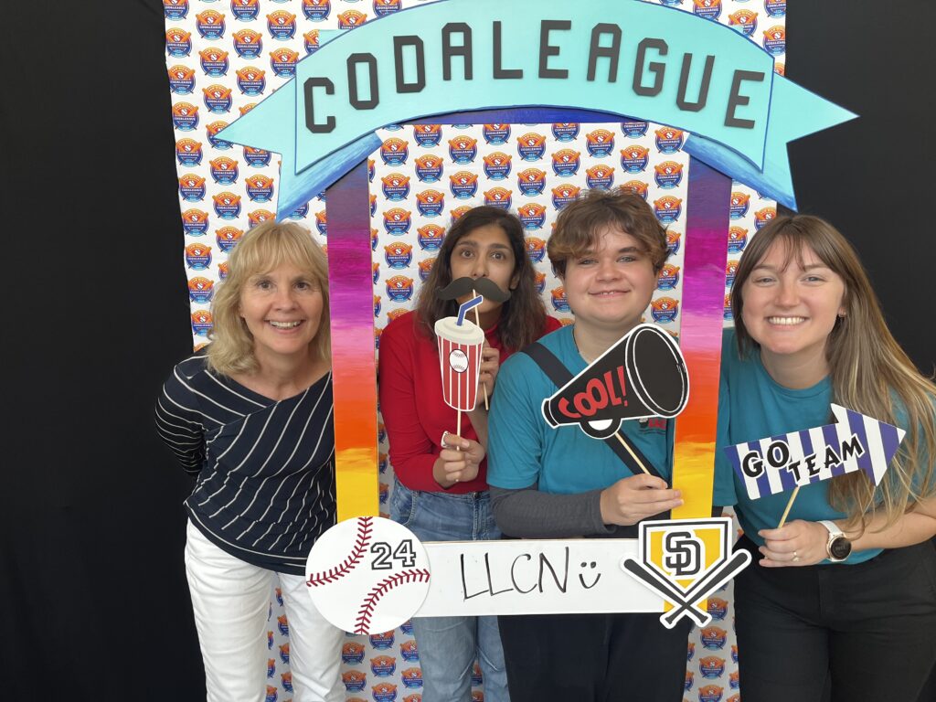
<instances>
[{"instance_id":1,"label":"black pants of woman holding the GO TEAM arrow","mask_svg":"<svg viewBox=\"0 0 936 702\"><path fill-rule=\"evenodd\" d=\"M936 550L866 563L763 568L735 579L744 702L915 702L936 661Z\"/></svg>"}]
</instances>

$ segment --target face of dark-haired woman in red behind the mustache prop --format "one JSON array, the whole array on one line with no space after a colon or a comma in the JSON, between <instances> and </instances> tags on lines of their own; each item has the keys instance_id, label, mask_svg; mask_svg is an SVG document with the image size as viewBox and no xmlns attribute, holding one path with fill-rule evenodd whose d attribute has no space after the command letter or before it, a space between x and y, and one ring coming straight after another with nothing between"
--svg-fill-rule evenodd
<instances>
[{"instance_id":1,"label":"face of dark-haired woman in red behind the mustache prop","mask_svg":"<svg viewBox=\"0 0 936 702\"><path fill-rule=\"evenodd\" d=\"M462 236L452 248L448 265L452 271L452 280L462 277L489 278L502 290L510 290L517 285L517 261L510 240L498 225L475 227ZM471 300L471 297L461 297L458 303ZM488 327L497 320L502 305L503 302L487 298L478 305L478 313L488 318L488 323L482 322L482 326Z\"/></svg>"}]
</instances>

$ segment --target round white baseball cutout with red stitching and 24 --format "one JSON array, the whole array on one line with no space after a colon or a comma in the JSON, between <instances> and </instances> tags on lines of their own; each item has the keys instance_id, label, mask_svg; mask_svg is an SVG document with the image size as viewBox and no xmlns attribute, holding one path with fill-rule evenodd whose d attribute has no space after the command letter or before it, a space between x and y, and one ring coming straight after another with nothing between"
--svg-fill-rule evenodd
<instances>
[{"instance_id":1,"label":"round white baseball cutout with red stitching and 24","mask_svg":"<svg viewBox=\"0 0 936 702\"><path fill-rule=\"evenodd\" d=\"M409 529L382 517L345 519L319 537L306 585L329 622L353 634L389 631L429 592L429 558Z\"/></svg>"}]
</instances>

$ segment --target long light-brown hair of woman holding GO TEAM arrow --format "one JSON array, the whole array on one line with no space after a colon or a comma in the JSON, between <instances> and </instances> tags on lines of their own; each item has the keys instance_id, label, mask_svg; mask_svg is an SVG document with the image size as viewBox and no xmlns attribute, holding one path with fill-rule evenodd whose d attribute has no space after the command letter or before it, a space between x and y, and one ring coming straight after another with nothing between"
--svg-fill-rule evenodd
<instances>
[{"instance_id":1,"label":"long light-brown hair of woman holding GO TEAM arrow","mask_svg":"<svg viewBox=\"0 0 936 702\"><path fill-rule=\"evenodd\" d=\"M748 244L741 256L731 291L739 353L758 347L744 326L743 287L774 241L786 247L787 263L802 263L809 248L845 284L840 316L826 339L826 362L833 401L890 424L907 425L907 436L877 488L863 473L832 479L829 504L848 515L849 528L861 529L879 512L893 524L920 500L936 493L936 386L917 371L887 329L881 305L852 245L819 217L777 217ZM926 464L924 464L926 461Z\"/></svg>"}]
</instances>

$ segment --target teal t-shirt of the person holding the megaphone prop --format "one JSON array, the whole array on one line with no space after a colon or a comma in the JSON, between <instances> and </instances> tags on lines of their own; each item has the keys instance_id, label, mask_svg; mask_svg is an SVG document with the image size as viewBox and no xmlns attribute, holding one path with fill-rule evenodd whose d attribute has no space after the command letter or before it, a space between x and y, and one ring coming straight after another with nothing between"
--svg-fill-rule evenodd
<instances>
[{"instance_id":1,"label":"teal t-shirt of the person holding the megaphone prop","mask_svg":"<svg viewBox=\"0 0 936 702\"><path fill-rule=\"evenodd\" d=\"M572 327L540 339L573 375L588 365L578 354ZM633 475L604 441L592 439L578 426L550 427L543 418L543 400L556 386L533 358L514 354L497 376L490 407L488 482L519 490L534 483L539 490L578 494L599 490ZM673 473L673 420L623 422L622 431L667 480ZM731 469L716 481L716 505L734 502Z\"/></svg>"}]
</instances>

